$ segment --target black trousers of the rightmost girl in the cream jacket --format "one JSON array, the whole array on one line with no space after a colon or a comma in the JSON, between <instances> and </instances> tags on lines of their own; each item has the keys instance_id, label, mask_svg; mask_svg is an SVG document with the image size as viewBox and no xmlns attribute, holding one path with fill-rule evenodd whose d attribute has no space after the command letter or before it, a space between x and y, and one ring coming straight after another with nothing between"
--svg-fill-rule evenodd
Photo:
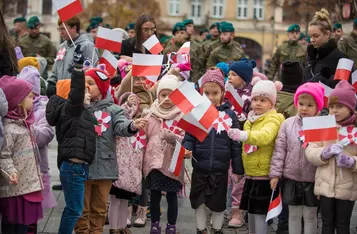
<instances>
[{"instance_id":1,"label":"black trousers of the rightmost girl in the cream jacket","mask_svg":"<svg viewBox=\"0 0 357 234\"><path fill-rule=\"evenodd\" d=\"M354 201L320 196L323 234L349 234Z\"/></svg>"}]
</instances>

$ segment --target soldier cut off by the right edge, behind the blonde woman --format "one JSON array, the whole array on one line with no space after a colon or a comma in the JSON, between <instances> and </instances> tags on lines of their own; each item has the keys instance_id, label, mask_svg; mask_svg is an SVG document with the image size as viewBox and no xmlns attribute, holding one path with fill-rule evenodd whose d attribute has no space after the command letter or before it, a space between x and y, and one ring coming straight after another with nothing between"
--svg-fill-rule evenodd
<instances>
[{"instance_id":1,"label":"soldier cut off by the right edge, behind the blonde woman","mask_svg":"<svg viewBox=\"0 0 357 234\"><path fill-rule=\"evenodd\" d=\"M338 41L338 49L353 60L354 68L357 68L357 18L353 22L353 31Z\"/></svg>"}]
</instances>

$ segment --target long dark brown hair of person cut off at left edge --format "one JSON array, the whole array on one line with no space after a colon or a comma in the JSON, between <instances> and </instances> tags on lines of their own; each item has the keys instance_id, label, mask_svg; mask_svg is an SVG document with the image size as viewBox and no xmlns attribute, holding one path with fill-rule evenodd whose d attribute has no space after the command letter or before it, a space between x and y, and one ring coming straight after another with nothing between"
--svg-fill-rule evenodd
<instances>
[{"instance_id":1,"label":"long dark brown hair of person cut off at left edge","mask_svg":"<svg viewBox=\"0 0 357 234\"><path fill-rule=\"evenodd\" d=\"M3 59L10 60L9 65L11 67L9 68L11 74L1 74L1 75L13 75L15 73L18 73L19 69L17 66L15 45L13 40L11 39L1 9L0 9L0 54L1 56L6 56L6 55L9 56L8 58L5 57Z\"/></svg>"}]
</instances>

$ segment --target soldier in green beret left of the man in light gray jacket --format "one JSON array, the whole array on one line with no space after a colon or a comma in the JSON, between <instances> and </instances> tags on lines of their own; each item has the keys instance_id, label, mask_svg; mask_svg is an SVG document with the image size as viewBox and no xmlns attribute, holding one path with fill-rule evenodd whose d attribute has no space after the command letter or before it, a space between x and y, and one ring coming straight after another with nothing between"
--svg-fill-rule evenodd
<instances>
[{"instance_id":1,"label":"soldier in green beret left of the man in light gray jacket","mask_svg":"<svg viewBox=\"0 0 357 234\"><path fill-rule=\"evenodd\" d=\"M57 49L51 40L40 33L41 22L37 16L33 16L27 22L28 34L19 42L22 53L25 57L44 57L47 67L43 73L43 78L47 79L47 68L55 62Z\"/></svg>"}]
</instances>

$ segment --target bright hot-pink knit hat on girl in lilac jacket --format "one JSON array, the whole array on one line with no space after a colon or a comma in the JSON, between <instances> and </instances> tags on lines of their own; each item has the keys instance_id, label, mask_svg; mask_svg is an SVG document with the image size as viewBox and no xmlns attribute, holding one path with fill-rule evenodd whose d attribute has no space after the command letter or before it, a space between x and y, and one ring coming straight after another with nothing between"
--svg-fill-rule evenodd
<instances>
[{"instance_id":1,"label":"bright hot-pink knit hat on girl in lilac jacket","mask_svg":"<svg viewBox=\"0 0 357 234\"><path fill-rule=\"evenodd\" d=\"M294 96L294 104L296 107L298 106L299 96L301 94L309 94L315 99L315 102L317 104L317 110L321 111L324 107L324 92L325 88L319 83L305 83L299 86L299 88L296 90Z\"/></svg>"}]
</instances>

